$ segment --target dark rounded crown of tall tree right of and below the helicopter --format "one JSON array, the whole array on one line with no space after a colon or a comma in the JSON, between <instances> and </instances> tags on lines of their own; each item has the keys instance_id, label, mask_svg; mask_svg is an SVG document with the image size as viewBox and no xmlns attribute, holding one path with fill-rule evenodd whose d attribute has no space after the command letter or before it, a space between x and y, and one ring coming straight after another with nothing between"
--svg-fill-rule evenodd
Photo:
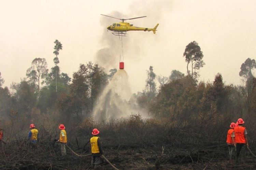
<instances>
[{"instance_id":1,"label":"dark rounded crown of tall tree right of and below the helicopter","mask_svg":"<svg viewBox=\"0 0 256 170\"><path fill-rule=\"evenodd\" d=\"M189 75L190 73L188 70L188 65L191 64L191 76L193 77L193 75L197 75L197 72L193 69L199 70L201 67L203 67L204 62L202 60L203 52L196 41L193 41L186 46L183 53L183 57L184 56L187 62L187 74Z\"/></svg>"}]
</instances>

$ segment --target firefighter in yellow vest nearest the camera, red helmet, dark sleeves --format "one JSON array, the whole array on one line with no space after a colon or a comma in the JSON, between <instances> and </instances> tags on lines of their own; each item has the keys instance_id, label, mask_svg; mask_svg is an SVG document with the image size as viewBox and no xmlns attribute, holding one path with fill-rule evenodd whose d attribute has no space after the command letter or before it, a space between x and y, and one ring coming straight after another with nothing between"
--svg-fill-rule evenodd
<instances>
[{"instance_id":1,"label":"firefighter in yellow vest nearest the camera, red helmet, dark sleeves","mask_svg":"<svg viewBox=\"0 0 256 170\"><path fill-rule=\"evenodd\" d=\"M90 139L91 143L91 168L100 167L100 156L103 154L101 147L101 139L98 136L100 131L98 129L94 129L91 133L93 137Z\"/></svg>"}]
</instances>

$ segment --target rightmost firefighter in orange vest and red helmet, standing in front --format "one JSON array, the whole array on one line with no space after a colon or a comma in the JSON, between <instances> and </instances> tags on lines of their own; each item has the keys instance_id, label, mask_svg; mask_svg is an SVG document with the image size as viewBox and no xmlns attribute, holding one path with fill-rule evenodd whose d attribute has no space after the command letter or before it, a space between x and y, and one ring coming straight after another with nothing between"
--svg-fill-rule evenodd
<instances>
[{"instance_id":1,"label":"rightmost firefighter in orange vest and red helmet, standing in front","mask_svg":"<svg viewBox=\"0 0 256 170\"><path fill-rule=\"evenodd\" d=\"M234 146L236 146L237 153L236 153L236 162L238 163L238 157L240 154L241 149L245 146L248 147L248 139L247 139L247 131L244 126L244 121L242 118L237 120L238 126L234 128L234 132L232 133L232 140L234 142Z\"/></svg>"}]
</instances>

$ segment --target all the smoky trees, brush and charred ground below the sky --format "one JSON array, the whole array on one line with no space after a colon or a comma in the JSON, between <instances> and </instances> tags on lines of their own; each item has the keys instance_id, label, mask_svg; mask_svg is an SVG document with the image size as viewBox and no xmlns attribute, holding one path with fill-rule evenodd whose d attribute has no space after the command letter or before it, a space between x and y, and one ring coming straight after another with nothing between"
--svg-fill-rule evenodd
<instances>
[{"instance_id":1,"label":"all the smoky trees, brush and charred ground below the sky","mask_svg":"<svg viewBox=\"0 0 256 170\"><path fill-rule=\"evenodd\" d=\"M101 122L93 119L92 111L113 70L108 74L97 64L80 64L71 81L56 64L50 72L43 68L40 81L31 67L27 78L13 83L11 90L2 87L0 74L0 128L5 142L0 148L0 169L90 169L90 157L77 156L68 148L67 155L60 156L54 142L60 123L66 126L67 145L79 155L90 153L91 131L99 129L103 153L118 169L255 169L256 159L249 153L243 163L234 164L226 146L230 122L242 117L256 153L255 60L248 58L241 65L239 75L245 83L235 86L225 84L221 73L213 82L198 81L197 71L204 65L201 54L201 65L196 67L193 54L187 56L188 64L194 61L191 74L173 70L169 78L159 76L159 88L150 66L145 89L132 97L148 117L131 113L128 118ZM30 123L39 130L36 145L27 141ZM106 162L101 165L112 169Z\"/></svg>"}]
</instances>

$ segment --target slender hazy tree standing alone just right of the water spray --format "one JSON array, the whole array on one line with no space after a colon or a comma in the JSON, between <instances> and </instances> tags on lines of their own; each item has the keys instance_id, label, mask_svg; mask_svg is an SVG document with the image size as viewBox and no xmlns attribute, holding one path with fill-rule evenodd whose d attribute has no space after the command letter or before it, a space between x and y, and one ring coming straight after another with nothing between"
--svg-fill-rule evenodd
<instances>
[{"instance_id":1,"label":"slender hazy tree standing alone just right of the water spray","mask_svg":"<svg viewBox=\"0 0 256 170\"><path fill-rule=\"evenodd\" d=\"M155 78L156 74L153 71L153 66L150 66L149 70L147 70L146 91L151 99L156 95Z\"/></svg>"}]
</instances>

